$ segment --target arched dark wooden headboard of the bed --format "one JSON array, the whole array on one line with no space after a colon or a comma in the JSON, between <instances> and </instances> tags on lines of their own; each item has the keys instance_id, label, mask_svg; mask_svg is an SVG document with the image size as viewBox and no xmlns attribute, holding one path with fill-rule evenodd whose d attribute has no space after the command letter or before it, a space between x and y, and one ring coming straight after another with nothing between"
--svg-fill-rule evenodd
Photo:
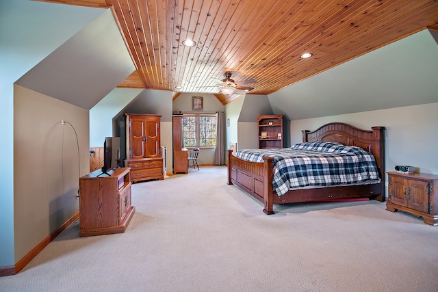
<instances>
[{"instance_id":1,"label":"arched dark wooden headboard of the bed","mask_svg":"<svg viewBox=\"0 0 438 292\"><path fill-rule=\"evenodd\" d=\"M362 130L344 124L332 122L324 124L315 131L302 130L302 142L339 142L347 146L361 147L376 157L377 167L382 179L385 194L385 127L372 127Z\"/></svg>"}]
</instances>

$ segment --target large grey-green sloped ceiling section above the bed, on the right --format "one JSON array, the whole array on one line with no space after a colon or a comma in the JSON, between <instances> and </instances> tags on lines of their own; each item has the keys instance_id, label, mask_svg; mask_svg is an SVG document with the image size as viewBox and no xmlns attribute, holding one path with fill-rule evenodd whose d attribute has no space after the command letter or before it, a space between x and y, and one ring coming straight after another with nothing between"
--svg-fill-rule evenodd
<instances>
[{"instance_id":1,"label":"large grey-green sloped ceiling section above the bed, on the right","mask_svg":"<svg viewBox=\"0 0 438 292\"><path fill-rule=\"evenodd\" d=\"M272 111L289 120L438 103L437 68L438 44L426 29L268 99Z\"/></svg>"}]
</instances>

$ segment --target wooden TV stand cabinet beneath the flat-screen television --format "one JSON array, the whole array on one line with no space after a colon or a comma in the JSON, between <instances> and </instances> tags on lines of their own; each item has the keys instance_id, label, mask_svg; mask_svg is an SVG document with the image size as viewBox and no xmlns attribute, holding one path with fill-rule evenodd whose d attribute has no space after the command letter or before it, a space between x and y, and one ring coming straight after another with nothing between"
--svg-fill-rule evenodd
<instances>
[{"instance_id":1,"label":"wooden TV stand cabinet beneath the flat-screen television","mask_svg":"<svg viewBox=\"0 0 438 292\"><path fill-rule=\"evenodd\" d=\"M124 233L136 208L129 168L96 170L79 178L79 236Z\"/></svg>"}]
</instances>

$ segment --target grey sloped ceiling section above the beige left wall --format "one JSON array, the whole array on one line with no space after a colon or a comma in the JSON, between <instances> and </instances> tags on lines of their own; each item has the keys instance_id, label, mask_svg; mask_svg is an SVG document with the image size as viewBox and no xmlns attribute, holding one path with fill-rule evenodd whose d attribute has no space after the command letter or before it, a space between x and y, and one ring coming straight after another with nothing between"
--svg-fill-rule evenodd
<instances>
[{"instance_id":1,"label":"grey sloped ceiling section above the beige left wall","mask_svg":"<svg viewBox=\"0 0 438 292\"><path fill-rule=\"evenodd\" d=\"M107 10L16 83L91 109L133 70L125 42Z\"/></svg>"}]
</instances>

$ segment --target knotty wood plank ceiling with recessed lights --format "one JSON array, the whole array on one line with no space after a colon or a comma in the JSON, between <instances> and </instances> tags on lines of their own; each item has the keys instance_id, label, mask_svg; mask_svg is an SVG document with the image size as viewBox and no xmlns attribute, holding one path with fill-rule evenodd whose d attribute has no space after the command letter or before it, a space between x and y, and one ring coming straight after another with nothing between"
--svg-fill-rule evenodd
<instances>
[{"instance_id":1,"label":"knotty wood plank ceiling with recessed lights","mask_svg":"<svg viewBox=\"0 0 438 292\"><path fill-rule=\"evenodd\" d=\"M120 87L220 94L232 72L270 94L422 29L432 0L42 0L112 8L136 71ZM194 47L184 47L185 39ZM312 53L301 59L302 53ZM181 86L180 89L177 89ZM242 92L240 92L242 93Z\"/></svg>"}]
</instances>

